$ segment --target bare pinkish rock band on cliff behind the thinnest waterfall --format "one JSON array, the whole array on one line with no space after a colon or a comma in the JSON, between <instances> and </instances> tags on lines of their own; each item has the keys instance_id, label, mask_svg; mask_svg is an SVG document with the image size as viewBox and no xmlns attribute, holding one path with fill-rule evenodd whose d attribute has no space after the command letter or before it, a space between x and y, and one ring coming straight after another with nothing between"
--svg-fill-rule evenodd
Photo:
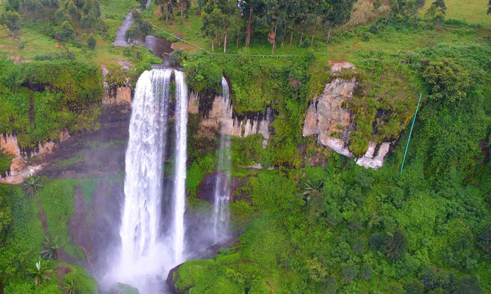
<instances>
[{"instance_id":1,"label":"bare pinkish rock band on cliff behind the thinnest waterfall","mask_svg":"<svg viewBox=\"0 0 491 294\"><path fill-rule=\"evenodd\" d=\"M238 116L233 110L233 105L227 103L225 99L216 95L211 101L209 109L200 109L200 103L204 103L199 95L191 92L188 102L190 113L200 113L203 119L200 121L200 129L203 132L214 129L227 135L237 137L247 137L249 135L263 135L263 147L268 145L270 138L270 124L273 122L273 111L266 109L266 114L254 114L251 116Z\"/></svg>"}]
</instances>

